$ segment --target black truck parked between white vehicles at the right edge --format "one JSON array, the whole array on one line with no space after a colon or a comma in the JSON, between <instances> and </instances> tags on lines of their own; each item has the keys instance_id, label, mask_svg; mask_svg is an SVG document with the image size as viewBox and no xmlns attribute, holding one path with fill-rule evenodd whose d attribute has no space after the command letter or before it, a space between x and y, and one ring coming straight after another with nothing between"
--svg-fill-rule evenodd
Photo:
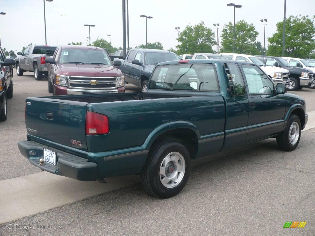
<instances>
[{"instance_id":1,"label":"black truck parked between white vehicles at the right edge","mask_svg":"<svg viewBox=\"0 0 315 236\"><path fill-rule=\"evenodd\" d=\"M266 65L277 66L289 70L290 81L287 89L295 91L303 87L315 88L314 74L312 70L289 65L288 62L279 57L255 55Z\"/></svg>"}]
</instances>

